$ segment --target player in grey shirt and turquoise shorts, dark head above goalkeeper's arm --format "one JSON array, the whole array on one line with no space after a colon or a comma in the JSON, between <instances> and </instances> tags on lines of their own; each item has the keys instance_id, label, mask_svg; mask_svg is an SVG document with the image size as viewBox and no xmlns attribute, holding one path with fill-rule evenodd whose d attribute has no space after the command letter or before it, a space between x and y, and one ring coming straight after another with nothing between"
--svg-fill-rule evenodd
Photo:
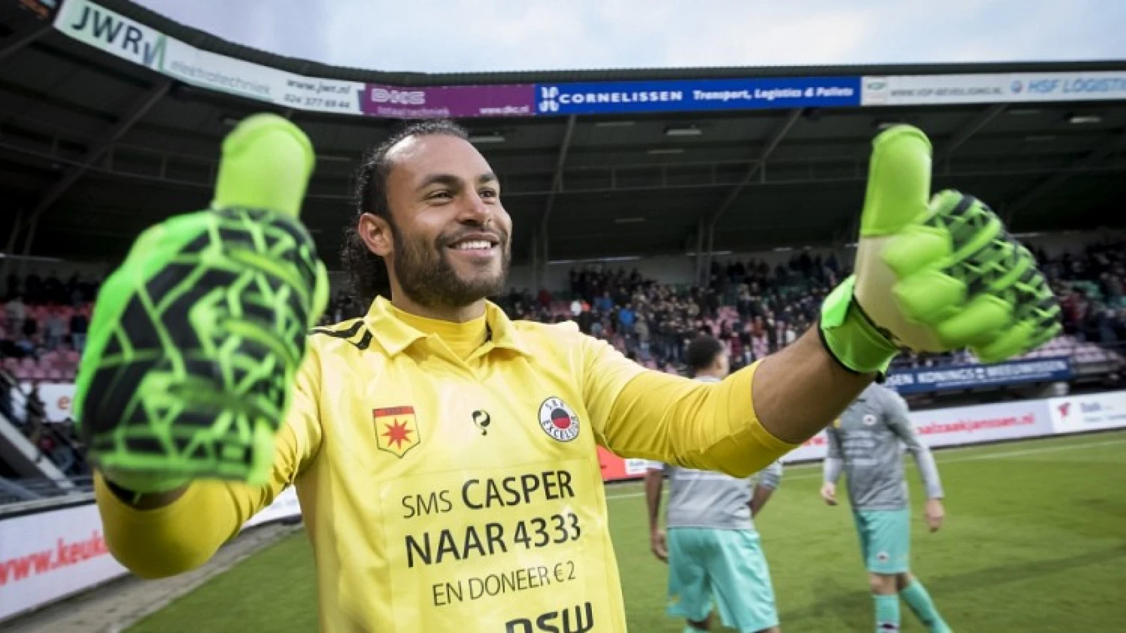
<instances>
[{"instance_id":1,"label":"player in grey shirt and turquoise shorts, dark head above goalkeeper's arm","mask_svg":"<svg viewBox=\"0 0 1126 633\"><path fill-rule=\"evenodd\" d=\"M727 355L713 337L695 338L686 359L696 380L715 382L727 375ZM665 473L671 487L667 532L659 521ZM650 544L669 563L668 613L685 618L686 631L708 631L713 604L724 626L740 633L780 631L770 569L753 523L780 479L778 462L745 479L660 462L650 465Z\"/></svg>"}]
</instances>

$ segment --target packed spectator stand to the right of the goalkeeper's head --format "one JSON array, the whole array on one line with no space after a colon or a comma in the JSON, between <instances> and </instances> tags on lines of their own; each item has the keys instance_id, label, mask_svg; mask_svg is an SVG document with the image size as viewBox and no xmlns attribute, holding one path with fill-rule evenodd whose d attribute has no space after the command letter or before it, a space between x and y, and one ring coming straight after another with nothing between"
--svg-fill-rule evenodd
<instances>
[{"instance_id":1,"label":"packed spectator stand to the right of the goalkeeper's head","mask_svg":"<svg viewBox=\"0 0 1126 633\"><path fill-rule=\"evenodd\" d=\"M1064 306L1065 333L1030 358L1069 356L1075 365L1105 365L1117 371L1126 341L1126 244L1091 244L1084 251L1051 258L1053 287ZM735 366L777 351L815 320L825 294L849 274L832 256L795 255L787 266L751 259L713 262L706 288L674 288L642 278L637 270L573 269L568 298L546 291L538 296L511 293L502 304L517 318L545 322L575 320L650 367L678 367L686 341L696 332L717 336ZM909 355L897 366L974 364L965 355Z\"/></svg>"}]
</instances>

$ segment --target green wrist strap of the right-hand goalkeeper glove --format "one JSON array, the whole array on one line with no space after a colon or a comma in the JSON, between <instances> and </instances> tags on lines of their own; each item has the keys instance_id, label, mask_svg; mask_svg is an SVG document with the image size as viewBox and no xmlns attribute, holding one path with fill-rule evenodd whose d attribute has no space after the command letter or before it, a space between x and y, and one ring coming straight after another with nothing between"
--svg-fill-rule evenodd
<instances>
[{"instance_id":1,"label":"green wrist strap of the right-hand goalkeeper glove","mask_svg":"<svg viewBox=\"0 0 1126 633\"><path fill-rule=\"evenodd\" d=\"M856 277L844 279L821 306L821 342L846 369L857 374L887 373L899 348L868 319L852 296Z\"/></svg>"}]
</instances>

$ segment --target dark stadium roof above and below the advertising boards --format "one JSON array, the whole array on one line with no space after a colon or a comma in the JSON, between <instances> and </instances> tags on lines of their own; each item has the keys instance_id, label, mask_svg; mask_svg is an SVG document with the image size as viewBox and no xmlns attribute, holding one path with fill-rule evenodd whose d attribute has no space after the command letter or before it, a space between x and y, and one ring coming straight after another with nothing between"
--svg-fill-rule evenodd
<instances>
[{"instance_id":1,"label":"dark stadium roof above and below the advertising boards","mask_svg":"<svg viewBox=\"0 0 1126 633\"><path fill-rule=\"evenodd\" d=\"M198 48L311 77L402 86L1121 70L1124 62L414 74L339 69L222 42L123 0L99 3ZM330 266L351 172L394 121L287 110L105 54L0 1L0 234L41 209L33 255L115 258L145 226L205 206L233 122L277 112L313 140L304 217ZM842 243L881 126L935 143L936 187L989 200L1017 232L1123 226L1126 101L792 108L464 119L501 175L517 261ZM491 142L490 142L491 141ZM23 234L23 232L21 232ZM20 238L23 240L23 238ZM5 244L0 244L3 248ZM10 249L10 247L9 247ZM8 250L8 249L6 249ZM17 247L18 250L18 247ZM539 252L543 252L542 250Z\"/></svg>"}]
</instances>

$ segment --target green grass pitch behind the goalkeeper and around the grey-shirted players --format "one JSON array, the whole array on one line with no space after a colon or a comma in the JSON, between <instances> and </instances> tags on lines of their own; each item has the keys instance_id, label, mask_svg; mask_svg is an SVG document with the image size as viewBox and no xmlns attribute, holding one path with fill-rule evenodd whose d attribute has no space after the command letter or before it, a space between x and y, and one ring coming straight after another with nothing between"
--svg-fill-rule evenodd
<instances>
[{"instance_id":1,"label":"green grass pitch behind the goalkeeper and around the grey-shirted players","mask_svg":"<svg viewBox=\"0 0 1126 633\"><path fill-rule=\"evenodd\" d=\"M947 520L922 523L913 465L912 567L955 631L1126 630L1126 433L937 453ZM873 630L847 506L817 496L820 465L786 470L759 528L784 631ZM665 487L668 488L668 487ZM679 633L649 553L636 483L608 491L629 630ZM843 493L843 491L841 491ZM903 605L903 630L923 631ZM311 549L297 534L138 623L132 633L315 631Z\"/></svg>"}]
</instances>

